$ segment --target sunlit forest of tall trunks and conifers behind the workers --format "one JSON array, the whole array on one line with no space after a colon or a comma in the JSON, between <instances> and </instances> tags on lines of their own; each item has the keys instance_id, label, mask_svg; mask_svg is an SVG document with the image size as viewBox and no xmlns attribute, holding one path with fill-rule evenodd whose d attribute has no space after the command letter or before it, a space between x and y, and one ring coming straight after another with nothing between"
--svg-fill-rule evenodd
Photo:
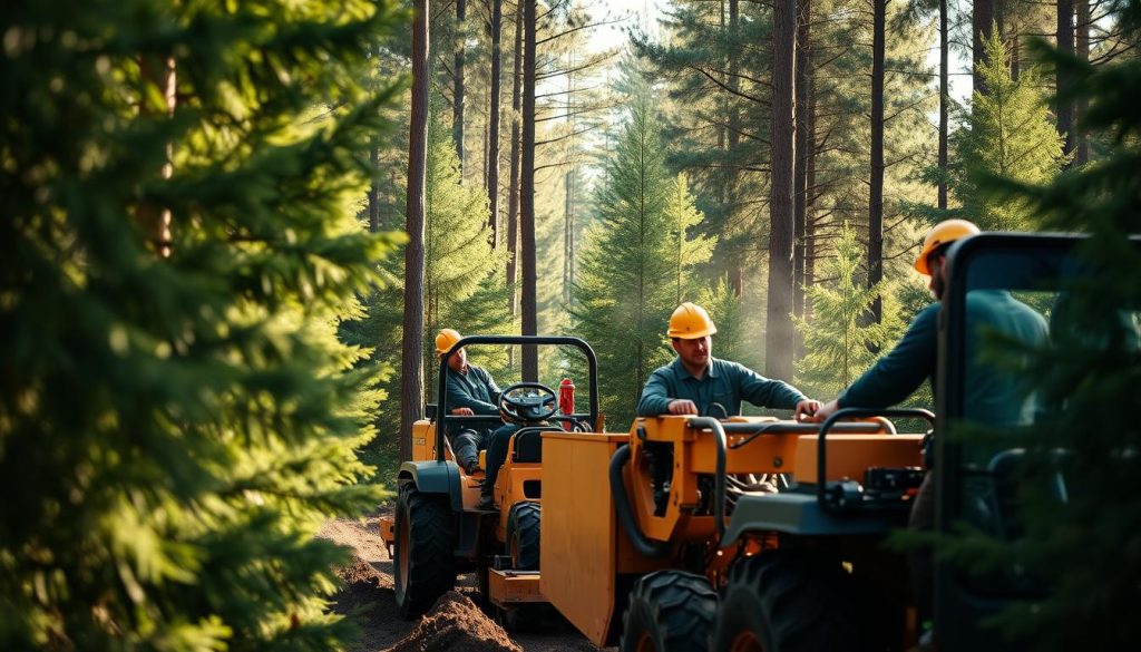
<instances>
[{"instance_id":1,"label":"sunlit forest of tall trunks and conifers behind the workers","mask_svg":"<svg viewBox=\"0 0 1141 652\"><path fill-rule=\"evenodd\" d=\"M1103 150L1074 128L1082 106L1047 102L1067 81L1028 43L1095 65L1133 56L1101 2L613 7L434 3L427 55L406 34L380 49L381 75L427 56L430 96L422 306L405 311L406 258L390 258L367 320L341 329L402 371L383 381L369 458L382 477L435 401L442 328L583 337L624 429L672 357L670 313L693 300L718 324L714 355L834 397L930 303L912 261L932 224L1037 226L979 179L1045 183ZM393 122L412 124L413 106L410 91ZM405 230L408 143L395 130L370 148L362 228ZM586 388L574 352L469 355L501 386ZM930 388L909 403L932 405Z\"/></svg>"}]
</instances>

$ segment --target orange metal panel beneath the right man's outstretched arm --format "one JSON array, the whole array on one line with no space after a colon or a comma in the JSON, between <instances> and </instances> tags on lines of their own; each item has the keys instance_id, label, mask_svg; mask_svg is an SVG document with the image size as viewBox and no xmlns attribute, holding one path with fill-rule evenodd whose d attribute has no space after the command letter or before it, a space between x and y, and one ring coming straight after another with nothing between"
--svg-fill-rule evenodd
<instances>
[{"instance_id":1,"label":"orange metal panel beneath the right man's outstretched arm","mask_svg":"<svg viewBox=\"0 0 1141 652\"><path fill-rule=\"evenodd\" d=\"M863 481L864 470L873 466L923 466L922 442L923 435L828 435L825 476ZM816 435L801 435L796 441L796 482L816 483Z\"/></svg>"}]
</instances>

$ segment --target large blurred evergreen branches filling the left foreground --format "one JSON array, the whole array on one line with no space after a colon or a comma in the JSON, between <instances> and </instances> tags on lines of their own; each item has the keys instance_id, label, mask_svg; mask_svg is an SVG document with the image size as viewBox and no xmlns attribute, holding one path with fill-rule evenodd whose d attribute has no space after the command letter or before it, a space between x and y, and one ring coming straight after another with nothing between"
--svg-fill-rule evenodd
<instances>
[{"instance_id":1,"label":"large blurred evergreen branches filling the left foreground","mask_svg":"<svg viewBox=\"0 0 1141 652\"><path fill-rule=\"evenodd\" d=\"M354 454L378 369L334 329L396 242L353 218L393 92L353 71L395 21L361 0L6 6L0 647L349 634L323 599L345 553L313 534L383 494Z\"/></svg>"}]
</instances>

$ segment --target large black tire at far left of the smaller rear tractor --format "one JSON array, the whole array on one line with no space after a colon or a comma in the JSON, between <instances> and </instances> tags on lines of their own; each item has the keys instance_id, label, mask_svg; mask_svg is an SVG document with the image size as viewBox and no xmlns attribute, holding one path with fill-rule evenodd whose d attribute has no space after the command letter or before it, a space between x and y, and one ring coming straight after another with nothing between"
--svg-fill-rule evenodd
<instances>
[{"instance_id":1,"label":"large black tire at far left of the smaller rear tractor","mask_svg":"<svg viewBox=\"0 0 1141 652\"><path fill-rule=\"evenodd\" d=\"M395 525L396 607L402 618L413 619L455 588L455 529L447 497L405 484L396 499Z\"/></svg>"}]
</instances>

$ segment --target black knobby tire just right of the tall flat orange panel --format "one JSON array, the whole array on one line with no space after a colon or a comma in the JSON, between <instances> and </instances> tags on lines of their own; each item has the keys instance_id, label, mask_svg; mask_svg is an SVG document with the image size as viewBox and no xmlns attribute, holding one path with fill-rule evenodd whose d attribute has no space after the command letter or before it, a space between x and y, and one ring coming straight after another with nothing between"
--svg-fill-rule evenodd
<instances>
[{"instance_id":1,"label":"black knobby tire just right of the tall flat orange panel","mask_svg":"<svg viewBox=\"0 0 1141 652\"><path fill-rule=\"evenodd\" d=\"M705 577L657 571L634 583L622 615L622 652L704 652L717 614Z\"/></svg>"}]
</instances>

